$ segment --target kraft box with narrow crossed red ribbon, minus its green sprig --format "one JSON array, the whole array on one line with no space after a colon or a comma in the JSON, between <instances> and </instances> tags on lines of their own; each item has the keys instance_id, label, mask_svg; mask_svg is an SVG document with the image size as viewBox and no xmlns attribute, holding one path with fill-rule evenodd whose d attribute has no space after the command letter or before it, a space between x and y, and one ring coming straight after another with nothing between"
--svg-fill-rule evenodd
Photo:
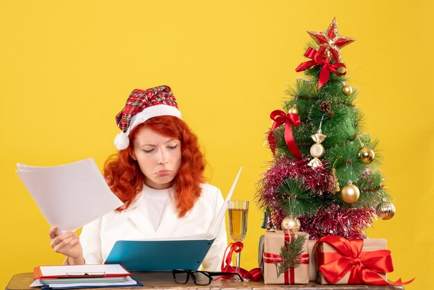
<instances>
[{"instance_id":1,"label":"kraft box with narrow crossed red ribbon, minus its green sprig","mask_svg":"<svg viewBox=\"0 0 434 290\"><path fill-rule=\"evenodd\" d=\"M305 232L295 232L295 237L304 235L305 241L303 244L302 255L300 256L301 263L295 267L291 267L288 271L277 275L277 267L275 262L281 262L281 247L289 241L290 235L284 231L266 232L263 238L263 282L265 284L307 284L309 283L309 235ZM259 263L259 264L261 264Z\"/></svg>"}]
</instances>

